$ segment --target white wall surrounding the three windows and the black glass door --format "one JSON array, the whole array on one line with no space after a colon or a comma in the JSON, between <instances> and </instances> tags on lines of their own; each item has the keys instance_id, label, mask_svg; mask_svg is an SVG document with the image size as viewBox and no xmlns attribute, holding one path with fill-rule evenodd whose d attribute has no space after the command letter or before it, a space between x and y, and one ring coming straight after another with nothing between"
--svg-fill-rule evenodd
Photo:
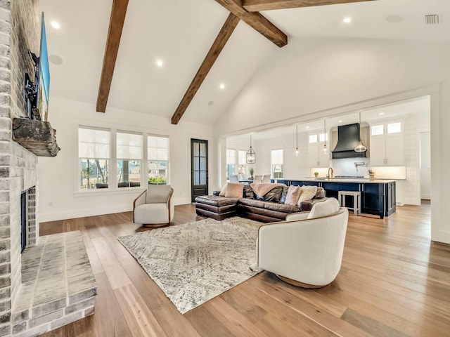
<instances>
[{"instance_id":1,"label":"white wall surrounding the three windows and the black glass door","mask_svg":"<svg viewBox=\"0 0 450 337\"><path fill-rule=\"evenodd\" d=\"M191 138L208 140L210 170L215 158L212 127L181 121L172 125L169 119L107 108L96 112L94 105L63 98L51 98L49 121L56 129L61 150L57 157L39 157L39 218L41 222L131 211L134 198L143 190L77 193L77 125L103 126L130 131L147 131L169 135L170 184L174 187L174 204L191 202ZM211 186L215 172L210 173ZM90 192L90 191L89 191Z\"/></svg>"}]
</instances>

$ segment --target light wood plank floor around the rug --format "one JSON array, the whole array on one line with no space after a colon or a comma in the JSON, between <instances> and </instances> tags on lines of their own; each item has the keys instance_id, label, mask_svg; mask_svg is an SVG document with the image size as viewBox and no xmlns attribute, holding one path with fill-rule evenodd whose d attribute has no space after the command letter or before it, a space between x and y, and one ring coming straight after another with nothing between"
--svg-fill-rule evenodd
<instances>
[{"instance_id":1,"label":"light wood plank floor around the rug","mask_svg":"<svg viewBox=\"0 0 450 337\"><path fill-rule=\"evenodd\" d=\"M200 220L176 206L174 224ZM44 336L450 336L450 246L430 242L430 204L380 220L349 218L342 269L323 289L269 272L179 314L117 237L142 230L131 212L41 223L81 230L96 281L95 314Z\"/></svg>"}]
</instances>

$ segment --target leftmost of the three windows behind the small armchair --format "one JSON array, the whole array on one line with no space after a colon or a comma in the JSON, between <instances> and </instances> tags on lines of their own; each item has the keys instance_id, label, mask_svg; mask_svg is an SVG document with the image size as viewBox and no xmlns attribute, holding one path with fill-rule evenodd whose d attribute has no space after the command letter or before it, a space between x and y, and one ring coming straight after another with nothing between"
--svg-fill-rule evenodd
<instances>
[{"instance_id":1,"label":"leftmost of the three windows behind the small armchair","mask_svg":"<svg viewBox=\"0 0 450 337\"><path fill-rule=\"evenodd\" d=\"M79 187L108 187L111 133L108 129L78 128Z\"/></svg>"}]
</instances>

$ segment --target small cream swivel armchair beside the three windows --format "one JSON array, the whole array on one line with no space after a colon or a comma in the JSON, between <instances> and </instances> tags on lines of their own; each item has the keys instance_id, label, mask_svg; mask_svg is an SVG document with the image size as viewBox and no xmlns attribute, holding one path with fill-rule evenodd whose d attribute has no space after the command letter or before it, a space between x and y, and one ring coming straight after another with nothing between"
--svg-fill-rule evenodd
<instances>
[{"instance_id":1,"label":"small cream swivel armchair beside the three windows","mask_svg":"<svg viewBox=\"0 0 450 337\"><path fill-rule=\"evenodd\" d=\"M133 221L143 227L169 225L174 216L171 202L174 189L170 185L148 185L133 202Z\"/></svg>"}]
</instances>

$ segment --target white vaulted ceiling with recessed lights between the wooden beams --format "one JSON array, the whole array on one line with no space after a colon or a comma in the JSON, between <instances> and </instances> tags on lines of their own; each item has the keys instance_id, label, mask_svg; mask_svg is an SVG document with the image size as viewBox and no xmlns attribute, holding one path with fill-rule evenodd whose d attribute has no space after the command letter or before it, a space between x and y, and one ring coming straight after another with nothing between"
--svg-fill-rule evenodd
<instances>
[{"instance_id":1,"label":"white vaulted ceiling with recessed lights between the wooden beams","mask_svg":"<svg viewBox=\"0 0 450 337\"><path fill-rule=\"evenodd\" d=\"M40 0L50 58L63 61L50 63L51 97L96 104L112 3ZM424 15L432 13L439 14L439 25L425 25ZM129 1L106 114L115 107L171 118L228 14L214 0ZM377 0L263 14L288 37L450 41L449 0ZM402 20L387 22L388 15ZM352 22L344 24L345 17ZM51 28L53 20L60 29ZM240 22L181 121L213 124L277 51Z\"/></svg>"}]
</instances>

